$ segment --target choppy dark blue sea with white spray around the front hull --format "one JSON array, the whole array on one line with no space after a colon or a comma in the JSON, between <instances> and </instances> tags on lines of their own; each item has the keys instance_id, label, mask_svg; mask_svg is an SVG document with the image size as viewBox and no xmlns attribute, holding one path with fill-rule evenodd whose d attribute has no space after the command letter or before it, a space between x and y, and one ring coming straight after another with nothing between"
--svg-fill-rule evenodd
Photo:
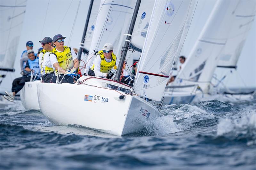
<instances>
[{"instance_id":1,"label":"choppy dark blue sea with white spray around the front hull","mask_svg":"<svg viewBox=\"0 0 256 170\"><path fill-rule=\"evenodd\" d=\"M139 133L55 126L20 101L0 109L0 169L256 169L256 100L162 107Z\"/></svg>"}]
</instances>

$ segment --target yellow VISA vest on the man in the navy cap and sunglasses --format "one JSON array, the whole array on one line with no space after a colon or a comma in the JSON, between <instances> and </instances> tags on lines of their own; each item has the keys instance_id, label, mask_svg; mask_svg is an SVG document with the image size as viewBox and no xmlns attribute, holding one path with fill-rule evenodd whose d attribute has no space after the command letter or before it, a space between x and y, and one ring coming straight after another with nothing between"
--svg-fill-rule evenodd
<instances>
[{"instance_id":1,"label":"yellow VISA vest on the man in the navy cap and sunglasses","mask_svg":"<svg viewBox=\"0 0 256 170\"><path fill-rule=\"evenodd\" d=\"M68 70L74 66L73 57L71 54L71 48L64 46L64 51L58 52L56 47L52 49L50 54L54 54L58 60L60 67L64 70ZM55 75L57 75L58 70L55 70Z\"/></svg>"}]
</instances>

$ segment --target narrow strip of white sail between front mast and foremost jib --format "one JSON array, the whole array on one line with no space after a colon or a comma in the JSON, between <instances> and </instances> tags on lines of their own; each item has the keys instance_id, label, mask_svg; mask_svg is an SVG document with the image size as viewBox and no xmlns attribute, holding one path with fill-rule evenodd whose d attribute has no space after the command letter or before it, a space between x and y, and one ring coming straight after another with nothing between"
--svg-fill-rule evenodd
<instances>
[{"instance_id":1,"label":"narrow strip of white sail between front mast and foremost jib","mask_svg":"<svg viewBox=\"0 0 256 170\"><path fill-rule=\"evenodd\" d=\"M147 35L149 20L151 18L154 3L155 1L148 0L142 0L140 3L140 9L138 11L138 17L136 18L130 43L130 47L140 52Z\"/></svg>"}]
</instances>

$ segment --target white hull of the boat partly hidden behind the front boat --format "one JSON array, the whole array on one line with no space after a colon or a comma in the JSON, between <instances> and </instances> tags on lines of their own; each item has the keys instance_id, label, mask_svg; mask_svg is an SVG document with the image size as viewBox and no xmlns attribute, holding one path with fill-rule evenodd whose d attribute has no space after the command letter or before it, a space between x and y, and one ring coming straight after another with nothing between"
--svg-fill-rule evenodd
<instances>
[{"instance_id":1,"label":"white hull of the boat partly hidden behind the front boat","mask_svg":"<svg viewBox=\"0 0 256 170\"><path fill-rule=\"evenodd\" d=\"M24 87L20 90L20 100L25 109L40 110L36 87L38 83L40 83L40 80L26 82Z\"/></svg>"}]
</instances>

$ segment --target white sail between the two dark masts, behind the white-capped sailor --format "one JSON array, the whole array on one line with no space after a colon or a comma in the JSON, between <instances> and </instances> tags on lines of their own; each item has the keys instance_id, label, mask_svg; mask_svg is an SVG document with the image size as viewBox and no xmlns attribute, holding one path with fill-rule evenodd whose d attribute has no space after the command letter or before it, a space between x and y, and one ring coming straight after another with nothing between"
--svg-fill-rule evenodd
<instances>
[{"instance_id":1,"label":"white sail between the two dark masts, behind the white-capped sailor","mask_svg":"<svg viewBox=\"0 0 256 170\"><path fill-rule=\"evenodd\" d=\"M121 36L124 36L122 28L129 23L125 20L127 15L132 16L132 11L135 1L118 1L118 0L101 0L100 9L96 21L96 26L92 38L89 56L87 57L87 64L85 73L94 60L94 50L101 50L105 43L111 43L114 46L114 52L118 56L121 51L118 47ZM123 31L125 31L123 29ZM118 50L118 51L116 51Z\"/></svg>"}]
</instances>

